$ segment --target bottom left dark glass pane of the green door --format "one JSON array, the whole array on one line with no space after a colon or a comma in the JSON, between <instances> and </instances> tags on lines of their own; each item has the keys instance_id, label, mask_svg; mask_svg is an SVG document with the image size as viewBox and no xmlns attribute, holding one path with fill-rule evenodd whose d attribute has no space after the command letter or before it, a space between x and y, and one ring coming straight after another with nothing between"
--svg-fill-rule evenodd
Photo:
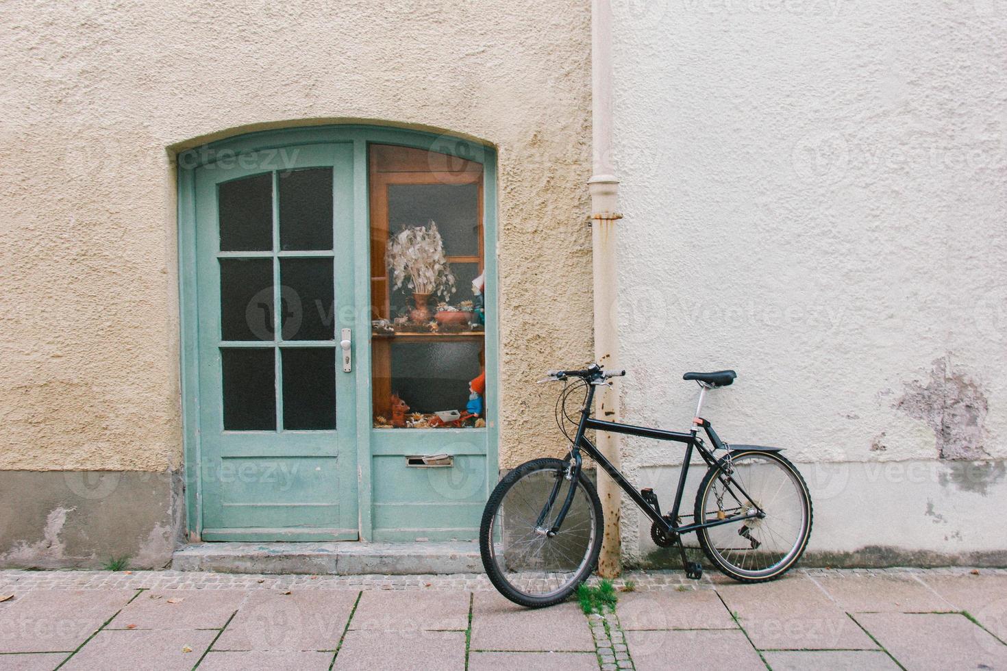
<instances>
[{"instance_id":1,"label":"bottom left dark glass pane of the green door","mask_svg":"<svg viewBox=\"0 0 1007 671\"><path fill-rule=\"evenodd\" d=\"M273 348L223 347L224 429L276 430Z\"/></svg>"}]
</instances>

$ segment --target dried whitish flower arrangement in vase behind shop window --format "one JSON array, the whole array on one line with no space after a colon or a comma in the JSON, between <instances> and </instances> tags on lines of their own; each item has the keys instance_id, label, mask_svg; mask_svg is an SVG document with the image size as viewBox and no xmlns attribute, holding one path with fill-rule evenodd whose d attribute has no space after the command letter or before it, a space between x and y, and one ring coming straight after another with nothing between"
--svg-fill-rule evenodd
<instances>
[{"instance_id":1,"label":"dried whitish flower arrangement in vase behind shop window","mask_svg":"<svg viewBox=\"0 0 1007 671\"><path fill-rule=\"evenodd\" d=\"M454 275L434 221L428 226L407 226L393 235L386 259L393 289L406 285L416 294L439 294L444 299L454 293Z\"/></svg>"}]
</instances>

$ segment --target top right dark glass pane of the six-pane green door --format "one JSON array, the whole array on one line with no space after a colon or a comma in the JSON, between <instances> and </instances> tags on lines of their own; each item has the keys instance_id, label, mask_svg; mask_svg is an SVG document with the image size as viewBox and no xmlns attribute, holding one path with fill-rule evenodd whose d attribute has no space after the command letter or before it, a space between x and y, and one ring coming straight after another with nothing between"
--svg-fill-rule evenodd
<instances>
[{"instance_id":1,"label":"top right dark glass pane of the six-pane green door","mask_svg":"<svg viewBox=\"0 0 1007 671\"><path fill-rule=\"evenodd\" d=\"M332 248L332 169L279 174L280 248Z\"/></svg>"}]
</instances>

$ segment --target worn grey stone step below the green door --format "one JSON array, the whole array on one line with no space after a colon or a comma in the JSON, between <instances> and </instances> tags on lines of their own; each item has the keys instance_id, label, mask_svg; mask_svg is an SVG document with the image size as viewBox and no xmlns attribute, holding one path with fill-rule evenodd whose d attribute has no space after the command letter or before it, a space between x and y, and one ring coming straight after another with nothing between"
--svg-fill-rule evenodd
<instances>
[{"instance_id":1,"label":"worn grey stone step below the green door","mask_svg":"<svg viewBox=\"0 0 1007 671\"><path fill-rule=\"evenodd\" d=\"M175 550L171 568L222 573L333 575L484 572L479 544L475 541L194 543Z\"/></svg>"}]
</instances>

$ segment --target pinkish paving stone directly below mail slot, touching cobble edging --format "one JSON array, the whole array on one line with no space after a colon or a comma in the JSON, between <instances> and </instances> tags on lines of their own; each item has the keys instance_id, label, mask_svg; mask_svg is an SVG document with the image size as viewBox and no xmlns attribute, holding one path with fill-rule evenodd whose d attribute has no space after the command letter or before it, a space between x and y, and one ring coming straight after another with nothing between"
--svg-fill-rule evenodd
<instances>
[{"instance_id":1,"label":"pinkish paving stone directly below mail slot, touching cobble edging","mask_svg":"<svg viewBox=\"0 0 1007 671\"><path fill-rule=\"evenodd\" d=\"M365 592L350 629L468 629L467 592Z\"/></svg>"}]
</instances>

